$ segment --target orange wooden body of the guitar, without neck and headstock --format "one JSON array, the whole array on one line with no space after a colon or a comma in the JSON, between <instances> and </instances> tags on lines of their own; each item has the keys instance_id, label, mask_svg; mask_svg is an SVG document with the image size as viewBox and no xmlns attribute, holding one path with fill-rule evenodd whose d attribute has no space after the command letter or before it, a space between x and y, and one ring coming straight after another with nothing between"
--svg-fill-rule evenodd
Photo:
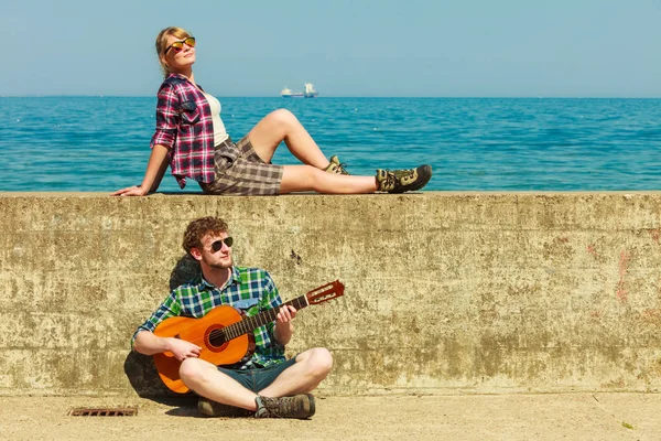
<instances>
[{"instance_id":1,"label":"orange wooden body of the guitar, without neck and headstock","mask_svg":"<svg viewBox=\"0 0 661 441\"><path fill-rule=\"evenodd\" d=\"M254 351L254 334L248 333L215 345L210 333L240 322L243 318L241 311L232 306L216 306L202 319L170 318L159 324L154 334L160 337L175 337L194 343L202 347L199 358L216 366L230 365L251 356ZM189 389L180 378L178 368L182 364L171 352L154 354L154 364L159 376L171 390L185 394Z\"/></svg>"}]
</instances>

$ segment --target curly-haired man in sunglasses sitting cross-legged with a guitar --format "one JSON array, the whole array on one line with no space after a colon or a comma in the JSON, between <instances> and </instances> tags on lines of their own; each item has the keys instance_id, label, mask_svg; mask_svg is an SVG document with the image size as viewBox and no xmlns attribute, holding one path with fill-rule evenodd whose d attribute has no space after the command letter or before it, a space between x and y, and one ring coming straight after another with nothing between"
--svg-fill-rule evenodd
<instances>
[{"instance_id":1,"label":"curly-haired man in sunglasses sitting cross-legged with a guitar","mask_svg":"<svg viewBox=\"0 0 661 441\"><path fill-rule=\"evenodd\" d=\"M315 347L285 359L284 345L292 337L296 310L282 305L266 270L235 267L231 246L232 238L223 219L203 217L188 224L183 247L199 262L202 273L174 289L136 331L133 349L145 355L173 353L182 362L181 379L201 396L198 409L207 416L246 409L257 418L310 418L315 404L308 392L326 378L333 357L326 348ZM242 309L248 315L280 308L274 322L254 330L256 351L245 363L217 367L198 358L201 347L196 344L153 334L165 319L199 319L223 304Z\"/></svg>"}]
</instances>

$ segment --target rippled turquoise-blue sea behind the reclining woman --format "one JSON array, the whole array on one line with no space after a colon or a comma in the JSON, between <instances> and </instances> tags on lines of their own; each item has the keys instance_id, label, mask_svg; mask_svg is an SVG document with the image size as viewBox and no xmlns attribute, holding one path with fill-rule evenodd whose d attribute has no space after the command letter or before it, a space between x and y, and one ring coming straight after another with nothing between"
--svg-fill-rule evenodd
<instances>
[{"instance_id":1,"label":"rippled turquoise-blue sea behind the reclining woman","mask_svg":"<svg viewBox=\"0 0 661 441\"><path fill-rule=\"evenodd\" d=\"M431 164L423 191L661 190L661 99L219 99L235 141L286 108L351 174ZM154 108L155 97L0 97L0 191L139 184ZM273 162L299 163L284 144ZM181 192L169 172L159 191Z\"/></svg>"}]
</instances>

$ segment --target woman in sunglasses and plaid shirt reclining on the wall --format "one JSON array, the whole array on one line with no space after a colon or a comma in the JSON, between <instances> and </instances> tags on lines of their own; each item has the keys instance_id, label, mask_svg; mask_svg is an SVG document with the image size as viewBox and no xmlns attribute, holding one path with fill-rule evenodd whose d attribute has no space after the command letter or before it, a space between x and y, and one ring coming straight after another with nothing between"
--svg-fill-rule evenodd
<instances>
[{"instance_id":1,"label":"woman in sunglasses and plaid shirt reclining on the wall","mask_svg":"<svg viewBox=\"0 0 661 441\"><path fill-rule=\"evenodd\" d=\"M165 80L158 94L156 131L141 185L119 190L115 196L142 196L159 189L170 164L180 186L186 178L204 193L274 195L300 191L329 194L390 192L422 189L432 175L430 165L412 170L377 170L373 176L351 176L337 157L330 161L289 110L279 109L234 143L220 119L220 103L195 82L195 39L181 28L166 28L156 36L156 53ZM271 163L278 146L305 165Z\"/></svg>"}]
</instances>

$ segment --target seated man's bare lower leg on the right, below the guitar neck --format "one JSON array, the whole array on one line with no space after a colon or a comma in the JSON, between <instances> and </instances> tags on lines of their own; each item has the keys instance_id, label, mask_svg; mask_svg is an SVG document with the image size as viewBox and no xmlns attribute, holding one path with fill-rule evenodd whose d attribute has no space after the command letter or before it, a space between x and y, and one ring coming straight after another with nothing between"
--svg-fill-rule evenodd
<instances>
[{"instance_id":1,"label":"seated man's bare lower leg on the right, below the guitar neck","mask_svg":"<svg viewBox=\"0 0 661 441\"><path fill-rule=\"evenodd\" d=\"M325 347L314 347L296 356L296 363L259 391L262 397L307 394L322 383L333 367L333 356Z\"/></svg>"}]
</instances>

